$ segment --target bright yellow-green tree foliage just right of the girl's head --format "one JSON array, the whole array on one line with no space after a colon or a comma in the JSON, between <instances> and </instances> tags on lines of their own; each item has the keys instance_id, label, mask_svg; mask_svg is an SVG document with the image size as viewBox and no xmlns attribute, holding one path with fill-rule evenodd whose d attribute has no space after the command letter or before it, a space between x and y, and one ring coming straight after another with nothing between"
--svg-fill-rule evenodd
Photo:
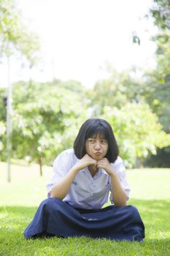
<instances>
[{"instance_id":1,"label":"bright yellow-green tree foliage just right of the girl's head","mask_svg":"<svg viewBox=\"0 0 170 256\"><path fill-rule=\"evenodd\" d=\"M128 103L122 108L104 108L104 118L112 125L120 155L134 164L136 157L145 158L156 148L170 145L170 135L163 132L158 117L152 113L149 105Z\"/></svg>"}]
</instances>

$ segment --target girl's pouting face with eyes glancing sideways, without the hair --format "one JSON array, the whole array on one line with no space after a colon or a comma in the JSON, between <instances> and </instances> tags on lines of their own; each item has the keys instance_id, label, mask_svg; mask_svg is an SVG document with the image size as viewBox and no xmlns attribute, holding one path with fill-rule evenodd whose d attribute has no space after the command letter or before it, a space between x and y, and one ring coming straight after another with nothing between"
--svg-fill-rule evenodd
<instances>
[{"instance_id":1,"label":"girl's pouting face with eyes glancing sideways, without the hair","mask_svg":"<svg viewBox=\"0 0 170 256\"><path fill-rule=\"evenodd\" d=\"M108 151L107 140L102 138L99 134L93 135L92 138L88 138L85 141L85 150L86 153L96 161L101 160L106 156Z\"/></svg>"}]
</instances>

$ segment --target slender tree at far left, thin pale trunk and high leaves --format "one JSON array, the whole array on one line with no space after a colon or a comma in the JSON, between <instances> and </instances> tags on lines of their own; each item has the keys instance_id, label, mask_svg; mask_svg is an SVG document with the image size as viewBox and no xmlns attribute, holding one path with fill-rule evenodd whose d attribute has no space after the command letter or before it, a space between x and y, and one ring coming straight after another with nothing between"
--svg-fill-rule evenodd
<instances>
[{"instance_id":1,"label":"slender tree at far left, thin pale trunk and high leaves","mask_svg":"<svg viewBox=\"0 0 170 256\"><path fill-rule=\"evenodd\" d=\"M21 53L28 60L29 67L36 63L36 53L39 50L38 37L28 33L28 29L20 19L20 13L15 6L15 0L0 0L0 59L7 58L8 81L10 77L9 57ZM8 82L7 94L7 171L10 181L10 159L11 159L11 116L12 116L12 86Z\"/></svg>"}]
</instances>

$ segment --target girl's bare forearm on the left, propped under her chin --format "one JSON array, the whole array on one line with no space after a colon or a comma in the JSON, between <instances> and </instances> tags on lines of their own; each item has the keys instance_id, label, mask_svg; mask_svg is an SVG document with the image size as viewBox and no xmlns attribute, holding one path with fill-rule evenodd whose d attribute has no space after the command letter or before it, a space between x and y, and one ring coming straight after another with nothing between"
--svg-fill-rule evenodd
<instances>
[{"instance_id":1,"label":"girl's bare forearm on the left, propped under her chin","mask_svg":"<svg viewBox=\"0 0 170 256\"><path fill-rule=\"evenodd\" d=\"M96 160L89 157L88 154L85 154L85 156L82 157L82 159L80 159L80 161L77 162L71 170L69 170L69 173L67 173L61 181L58 181L58 183L55 184L51 189L50 196L58 197L59 199L66 197L77 173L88 165L96 165Z\"/></svg>"}]
</instances>

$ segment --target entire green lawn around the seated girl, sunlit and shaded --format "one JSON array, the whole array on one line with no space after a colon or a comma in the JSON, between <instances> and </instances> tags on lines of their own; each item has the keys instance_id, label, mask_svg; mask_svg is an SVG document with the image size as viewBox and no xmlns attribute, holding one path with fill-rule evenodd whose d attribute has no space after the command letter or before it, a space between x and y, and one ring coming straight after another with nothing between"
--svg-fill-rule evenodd
<instances>
[{"instance_id":1,"label":"entire green lawn around the seated girl, sunlit and shaded","mask_svg":"<svg viewBox=\"0 0 170 256\"><path fill-rule=\"evenodd\" d=\"M170 170L128 170L131 199L146 227L143 243L92 238L41 238L26 240L23 230L46 197L52 174L45 167L39 177L36 165L12 165L7 183L6 165L0 163L0 255L170 255Z\"/></svg>"}]
</instances>

